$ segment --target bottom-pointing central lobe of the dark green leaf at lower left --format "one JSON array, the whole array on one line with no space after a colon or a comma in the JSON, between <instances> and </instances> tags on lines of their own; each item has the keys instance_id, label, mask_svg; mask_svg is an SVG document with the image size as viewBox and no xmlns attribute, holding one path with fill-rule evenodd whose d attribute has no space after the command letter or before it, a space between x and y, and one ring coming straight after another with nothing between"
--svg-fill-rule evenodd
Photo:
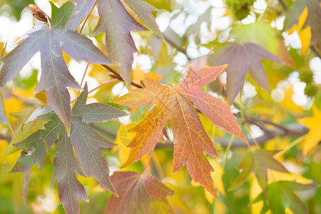
<instances>
[{"instance_id":1,"label":"bottom-pointing central lobe of the dark green leaf at lower left","mask_svg":"<svg viewBox=\"0 0 321 214\"><path fill-rule=\"evenodd\" d=\"M67 214L80 212L78 198L88 200L86 190L77 179L75 173L86 177L73 155L73 148L65 128L60 126L51 187L58 179L59 200Z\"/></svg>"}]
</instances>

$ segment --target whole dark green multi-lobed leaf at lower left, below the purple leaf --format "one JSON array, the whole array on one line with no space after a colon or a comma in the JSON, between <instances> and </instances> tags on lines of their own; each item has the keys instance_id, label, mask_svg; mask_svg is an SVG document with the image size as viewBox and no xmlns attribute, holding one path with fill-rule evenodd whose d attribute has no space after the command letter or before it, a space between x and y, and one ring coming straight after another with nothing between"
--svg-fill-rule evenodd
<instances>
[{"instance_id":1,"label":"whole dark green multi-lobed leaf at lower left, below the purple leaf","mask_svg":"<svg viewBox=\"0 0 321 214\"><path fill-rule=\"evenodd\" d=\"M87 199L86 191L75 173L93 177L103 185L103 188L116 194L111 185L106 159L100 151L100 148L111 148L115 144L103 138L86 123L107 121L111 118L125 116L126 113L103 103L86 105L87 95L88 88L85 85L83 93L73 106L70 137L58 116L45 109L36 114L38 115L37 120L49 121L44 125L44 130L36 131L24 141L14 144L24 151L21 152L11 172L26 173L26 180L29 180L32 165L37 163L39 169L44 167L46 151L59 136L51 185L54 185L58 179L58 196L66 213L79 213L78 198ZM73 155L73 150L76 152L80 165Z\"/></svg>"}]
</instances>

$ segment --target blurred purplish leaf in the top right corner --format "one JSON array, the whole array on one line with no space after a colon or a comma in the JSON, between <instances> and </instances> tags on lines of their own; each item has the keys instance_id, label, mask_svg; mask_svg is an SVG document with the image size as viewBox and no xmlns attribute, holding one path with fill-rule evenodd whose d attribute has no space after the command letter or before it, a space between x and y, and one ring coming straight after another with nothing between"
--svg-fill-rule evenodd
<instances>
[{"instance_id":1,"label":"blurred purplish leaf in the top right corner","mask_svg":"<svg viewBox=\"0 0 321 214\"><path fill-rule=\"evenodd\" d=\"M302 19L301 14L304 14L303 12L305 11L305 9L307 9L307 16L305 16L305 19ZM289 8L288 14L287 16L285 16L286 18L284 21L284 26L285 26L285 29L291 29L292 26L295 26L298 24L300 28L299 30L310 29L309 31L311 34L311 43L317 45L317 47L321 49L321 37L320 37L321 26L319 21L320 16L321 16L320 0L297 0ZM306 38L305 36L303 37ZM302 42L304 43L305 41L302 41Z\"/></svg>"}]
</instances>

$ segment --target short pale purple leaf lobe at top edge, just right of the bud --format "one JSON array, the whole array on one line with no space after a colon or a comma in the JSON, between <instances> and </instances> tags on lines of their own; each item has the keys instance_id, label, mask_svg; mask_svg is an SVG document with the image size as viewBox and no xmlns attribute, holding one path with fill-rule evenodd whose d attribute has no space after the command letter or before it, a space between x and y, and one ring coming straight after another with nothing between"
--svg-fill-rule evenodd
<instances>
[{"instance_id":1,"label":"short pale purple leaf lobe at top edge, just right of the bud","mask_svg":"<svg viewBox=\"0 0 321 214\"><path fill-rule=\"evenodd\" d=\"M76 31L81 20L85 19L86 16L90 14L91 9L93 9L93 6L96 4L96 1L97 0L74 0L73 3L76 4L76 9L67 24L67 29Z\"/></svg>"}]
</instances>

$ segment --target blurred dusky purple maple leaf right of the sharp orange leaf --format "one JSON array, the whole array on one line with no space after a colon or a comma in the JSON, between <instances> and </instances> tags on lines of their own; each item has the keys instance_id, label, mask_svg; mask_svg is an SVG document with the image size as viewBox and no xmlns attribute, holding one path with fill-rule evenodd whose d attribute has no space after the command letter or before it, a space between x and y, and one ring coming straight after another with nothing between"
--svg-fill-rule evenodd
<instances>
[{"instance_id":1,"label":"blurred dusky purple maple leaf right of the sharp orange leaf","mask_svg":"<svg viewBox=\"0 0 321 214\"><path fill-rule=\"evenodd\" d=\"M245 74L249 72L252 78L267 91L270 91L269 83L267 83L266 73L261 62L262 58L281 63L277 56L271 54L263 47L253 43L238 44L236 42L225 46L218 51L215 58L210 58L210 65L216 66L228 63L226 69L228 80L226 91L228 95L228 103L232 104L235 97L243 87Z\"/></svg>"}]
</instances>

